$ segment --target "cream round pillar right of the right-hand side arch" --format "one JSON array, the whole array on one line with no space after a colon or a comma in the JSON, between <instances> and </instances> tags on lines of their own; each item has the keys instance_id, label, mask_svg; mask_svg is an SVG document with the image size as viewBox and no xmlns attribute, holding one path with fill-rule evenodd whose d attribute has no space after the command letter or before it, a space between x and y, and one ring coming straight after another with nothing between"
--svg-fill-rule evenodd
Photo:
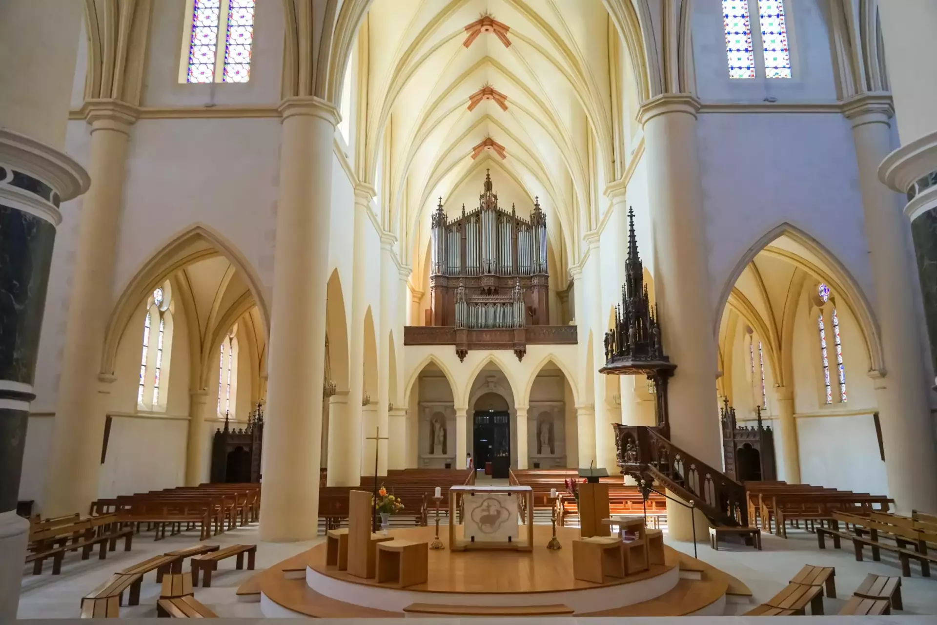
<instances>
[{"instance_id":1,"label":"cream round pillar right of the right-hand side arch","mask_svg":"<svg viewBox=\"0 0 937 625\"><path fill-rule=\"evenodd\" d=\"M913 509L937 512L937 482L933 479L937 475L937 453L930 393L921 367L924 359L915 315L908 227L900 216L898 196L875 176L891 149L890 98L868 94L855 97L846 103L845 115L853 123L875 312L885 356L885 377L876 380L875 387L888 494L895 499L900 513ZM925 432L931 436L921 436Z\"/></svg>"}]
</instances>

